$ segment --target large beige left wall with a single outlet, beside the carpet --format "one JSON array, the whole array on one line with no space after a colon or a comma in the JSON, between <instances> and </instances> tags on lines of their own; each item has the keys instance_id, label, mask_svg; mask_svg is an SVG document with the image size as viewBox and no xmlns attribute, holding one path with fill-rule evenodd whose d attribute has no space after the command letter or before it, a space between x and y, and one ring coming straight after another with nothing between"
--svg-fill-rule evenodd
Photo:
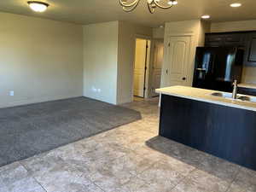
<instances>
[{"instance_id":1,"label":"large beige left wall with a single outlet, beside the carpet","mask_svg":"<svg viewBox=\"0 0 256 192\"><path fill-rule=\"evenodd\" d=\"M82 26L7 13L0 23L0 108L82 96Z\"/></svg>"}]
</instances>

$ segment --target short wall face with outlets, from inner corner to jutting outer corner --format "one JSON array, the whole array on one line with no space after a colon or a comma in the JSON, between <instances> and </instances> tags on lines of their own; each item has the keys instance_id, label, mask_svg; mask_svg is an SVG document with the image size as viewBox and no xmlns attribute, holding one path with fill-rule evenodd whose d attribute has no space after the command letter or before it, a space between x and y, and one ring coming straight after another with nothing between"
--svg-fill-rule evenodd
<instances>
[{"instance_id":1,"label":"short wall face with outlets, from inner corner to jutting outer corner","mask_svg":"<svg viewBox=\"0 0 256 192\"><path fill-rule=\"evenodd\" d=\"M117 103L119 22L84 26L84 96Z\"/></svg>"}]
</instances>

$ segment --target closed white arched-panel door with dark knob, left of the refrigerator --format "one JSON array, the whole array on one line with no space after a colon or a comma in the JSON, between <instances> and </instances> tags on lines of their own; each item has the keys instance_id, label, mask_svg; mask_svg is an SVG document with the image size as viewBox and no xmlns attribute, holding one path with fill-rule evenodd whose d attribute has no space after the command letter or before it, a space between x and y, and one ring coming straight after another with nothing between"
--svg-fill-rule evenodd
<instances>
[{"instance_id":1,"label":"closed white arched-panel door with dark knob, left of the refrigerator","mask_svg":"<svg viewBox=\"0 0 256 192\"><path fill-rule=\"evenodd\" d=\"M167 61L168 85L188 85L190 36L170 37Z\"/></svg>"}]
</instances>

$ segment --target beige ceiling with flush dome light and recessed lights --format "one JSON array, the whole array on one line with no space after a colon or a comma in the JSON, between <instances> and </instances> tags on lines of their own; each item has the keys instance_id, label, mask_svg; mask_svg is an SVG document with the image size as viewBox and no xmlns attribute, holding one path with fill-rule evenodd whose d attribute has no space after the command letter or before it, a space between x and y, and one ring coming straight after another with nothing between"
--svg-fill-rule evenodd
<instances>
[{"instance_id":1,"label":"beige ceiling with flush dome light and recessed lights","mask_svg":"<svg viewBox=\"0 0 256 192\"><path fill-rule=\"evenodd\" d=\"M78 24L90 24L111 20L127 20L143 26L160 26L166 21L194 20L201 15L211 15L211 21L256 19L256 0L177 0L172 9L156 9L151 15L147 0L141 0L131 13L125 13L118 0L41 0L49 3L44 13L35 13L28 8L26 0L2 0L0 11L20 15L32 15L52 20L63 20ZM131 1L131 0L129 0ZM161 0L166 1L166 0ZM230 8L230 3L242 3L240 8Z\"/></svg>"}]
</instances>

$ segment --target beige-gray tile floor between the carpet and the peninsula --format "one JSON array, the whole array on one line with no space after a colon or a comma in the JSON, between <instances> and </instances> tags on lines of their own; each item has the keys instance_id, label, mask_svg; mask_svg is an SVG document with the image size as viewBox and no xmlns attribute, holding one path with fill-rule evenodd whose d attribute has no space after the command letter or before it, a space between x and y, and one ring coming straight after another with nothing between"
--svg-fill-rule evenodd
<instances>
[{"instance_id":1,"label":"beige-gray tile floor between the carpet and the peninsula","mask_svg":"<svg viewBox=\"0 0 256 192\"><path fill-rule=\"evenodd\" d=\"M0 192L253 192L256 172L158 137L158 101L143 119L0 167Z\"/></svg>"}]
</instances>

